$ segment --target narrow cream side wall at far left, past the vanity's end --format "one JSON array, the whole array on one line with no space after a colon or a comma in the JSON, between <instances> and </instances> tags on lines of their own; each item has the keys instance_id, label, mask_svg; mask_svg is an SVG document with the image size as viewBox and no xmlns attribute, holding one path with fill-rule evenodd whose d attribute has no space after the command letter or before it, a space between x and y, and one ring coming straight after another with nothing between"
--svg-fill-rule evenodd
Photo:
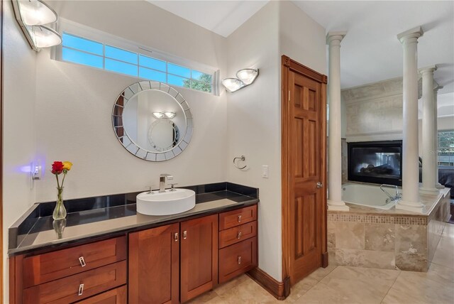
<instances>
[{"instance_id":1,"label":"narrow cream side wall at far left, past the vanity's end","mask_svg":"<svg viewBox=\"0 0 454 304\"><path fill-rule=\"evenodd\" d=\"M8 303L8 227L35 202L30 163L35 156L35 57L14 17L4 4L3 45L3 250L4 303ZM28 172L27 172L28 171Z\"/></svg>"}]
</instances>

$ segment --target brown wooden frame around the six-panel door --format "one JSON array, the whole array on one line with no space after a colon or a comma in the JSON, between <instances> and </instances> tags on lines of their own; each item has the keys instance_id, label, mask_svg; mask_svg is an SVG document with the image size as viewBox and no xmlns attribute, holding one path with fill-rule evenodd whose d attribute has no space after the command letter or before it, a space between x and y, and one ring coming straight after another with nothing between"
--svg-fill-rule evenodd
<instances>
[{"instance_id":1,"label":"brown wooden frame around the six-panel door","mask_svg":"<svg viewBox=\"0 0 454 304\"><path fill-rule=\"evenodd\" d=\"M321 99L320 102L323 104L321 107L321 121L325 121L321 126L321 134L324 134L321 139L321 181L326 189L326 84L328 77L320 74L309 67L297 63L287 55L282 55L282 85L281 85L281 96L282 96L282 279L286 281L291 275L290 270L290 222L289 210L291 202L291 190L289 188L289 180L291 178L291 170L289 170L289 72L297 72L305 77L311 78L321 84ZM321 200L323 202L322 210L322 222L321 222L321 264L325 268L328 266L328 251L327 251L327 237L326 237L326 190L321 192Z\"/></svg>"}]
</instances>

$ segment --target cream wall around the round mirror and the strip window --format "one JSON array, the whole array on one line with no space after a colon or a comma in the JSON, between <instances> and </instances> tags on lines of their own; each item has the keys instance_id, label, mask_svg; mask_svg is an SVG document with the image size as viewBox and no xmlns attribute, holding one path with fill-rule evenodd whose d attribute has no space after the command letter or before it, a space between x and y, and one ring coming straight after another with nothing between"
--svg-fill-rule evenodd
<instances>
[{"instance_id":1,"label":"cream wall around the round mirror and the strip window","mask_svg":"<svg viewBox=\"0 0 454 304\"><path fill-rule=\"evenodd\" d=\"M223 52L218 51L225 38L145 1L52 5L71 21L225 71ZM153 163L128 153L111 124L116 97L137 78L50 60L48 50L38 55L37 75L38 156L45 168L55 160L74 163L65 180L65 199L157 188L160 173L174 175L179 186L226 180L226 162L220 161L227 158L225 95L177 88L192 109L194 135L181 155ZM48 170L36 200L55 200L55 178Z\"/></svg>"}]
</instances>

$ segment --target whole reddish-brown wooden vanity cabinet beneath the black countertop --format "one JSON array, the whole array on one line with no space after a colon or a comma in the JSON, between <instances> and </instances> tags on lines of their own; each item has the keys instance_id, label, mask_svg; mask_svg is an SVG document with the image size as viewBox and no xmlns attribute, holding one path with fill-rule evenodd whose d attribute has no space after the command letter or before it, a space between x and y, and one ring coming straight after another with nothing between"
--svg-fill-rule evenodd
<instances>
[{"instance_id":1,"label":"whole reddish-brown wooden vanity cabinet beneath the black countertop","mask_svg":"<svg viewBox=\"0 0 454 304\"><path fill-rule=\"evenodd\" d=\"M10 304L185 303L257 266L257 205L10 258Z\"/></svg>"}]
</instances>

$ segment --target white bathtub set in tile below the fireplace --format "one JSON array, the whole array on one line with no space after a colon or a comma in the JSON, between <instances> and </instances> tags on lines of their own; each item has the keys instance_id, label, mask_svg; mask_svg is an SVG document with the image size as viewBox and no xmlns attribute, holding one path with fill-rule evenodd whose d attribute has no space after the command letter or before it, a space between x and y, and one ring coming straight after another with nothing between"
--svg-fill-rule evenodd
<instances>
[{"instance_id":1,"label":"white bathtub set in tile below the fireplace","mask_svg":"<svg viewBox=\"0 0 454 304\"><path fill-rule=\"evenodd\" d=\"M390 195L394 195L394 188L384 188ZM402 189L399 188L399 192ZM357 183L346 183L342 185L342 200L349 204L355 204L377 209L389 210L395 201L387 202L387 195L380 190L380 185L364 185Z\"/></svg>"}]
</instances>

